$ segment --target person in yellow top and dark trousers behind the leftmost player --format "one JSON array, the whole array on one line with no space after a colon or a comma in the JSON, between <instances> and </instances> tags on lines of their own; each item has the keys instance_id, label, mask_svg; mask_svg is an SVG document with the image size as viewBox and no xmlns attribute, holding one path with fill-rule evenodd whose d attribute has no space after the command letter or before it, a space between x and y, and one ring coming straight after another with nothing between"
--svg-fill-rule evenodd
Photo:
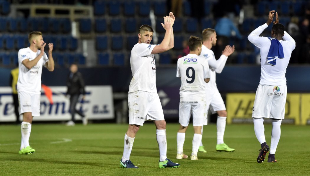
<instances>
[{"instance_id":1,"label":"person in yellow top and dark trousers behind the leftmost player","mask_svg":"<svg viewBox=\"0 0 310 176\"><path fill-rule=\"evenodd\" d=\"M10 75L10 85L12 87L12 96L13 96L13 103L14 103L14 112L16 116L16 124L20 123L19 120L19 105L18 105L18 95L17 95L17 80L18 80L18 62L16 63L16 68L11 70Z\"/></svg>"}]
</instances>

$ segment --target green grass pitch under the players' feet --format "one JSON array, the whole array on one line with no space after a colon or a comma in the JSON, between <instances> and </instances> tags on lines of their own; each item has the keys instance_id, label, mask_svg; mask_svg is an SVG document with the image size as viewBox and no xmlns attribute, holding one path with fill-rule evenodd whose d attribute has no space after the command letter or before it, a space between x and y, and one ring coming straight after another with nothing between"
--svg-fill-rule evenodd
<instances>
[{"instance_id":1,"label":"green grass pitch under the players' feet","mask_svg":"<svg viewBox=\"0 0 310 176\"><path fill-rule=\"evenodd\" d=\"M226 126L224 141L236 151L216 152L216 126L205 126L202 136L207 153L199 160L176 160L176 133L179 124L167 124L167 156L179 168L158 167L155 125L146 123L137 133L131 161L139 169L119 167L127 124L89 124L67 127L63 124L32 126L30 145L33 155L20 155L20 125L0 125L0 175L309 175L309 126L281 126L277 163L258 164L260 148L253 124ZM271 125L265 125L270 144ZM63 139L71 142L58 143ZM192 150L193 127L188 128L184 153Z\"/></svg>"}]
</instances>

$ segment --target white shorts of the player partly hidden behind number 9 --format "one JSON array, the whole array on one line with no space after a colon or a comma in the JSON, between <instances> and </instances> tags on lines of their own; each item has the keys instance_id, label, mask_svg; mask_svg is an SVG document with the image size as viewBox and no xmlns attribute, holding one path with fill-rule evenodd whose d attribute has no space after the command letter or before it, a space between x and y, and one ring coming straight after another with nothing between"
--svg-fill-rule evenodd
<instances>
[{"instance_id":1,"label":"white shorts of the player partly hidden behind number 9","mask_svg":"<svg viewBox=\"0 0 310 176\"><path fill-rule=\"evenodd\" d=\"M207 107L206 110L215 114L216 111L226 110L223 98L219 93L219 90L206 90L206 103Z\"/></svg>"}]
</instances>

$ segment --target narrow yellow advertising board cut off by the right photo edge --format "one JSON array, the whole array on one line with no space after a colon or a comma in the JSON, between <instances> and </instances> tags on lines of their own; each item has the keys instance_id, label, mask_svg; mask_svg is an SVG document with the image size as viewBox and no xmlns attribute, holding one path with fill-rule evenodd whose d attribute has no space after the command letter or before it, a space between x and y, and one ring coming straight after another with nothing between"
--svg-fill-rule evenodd
<instances>
[{"instance_id":1,"label":"narrow yellow advertising board cut off by the right photo edge","mask_svg":"<svg viewBox=\"0 0 310 176\"><path fill-rule=\"evenodd\" d=\"M301 94L301 122L310 125L310 94Z\"/></svg>"}]
</instances>

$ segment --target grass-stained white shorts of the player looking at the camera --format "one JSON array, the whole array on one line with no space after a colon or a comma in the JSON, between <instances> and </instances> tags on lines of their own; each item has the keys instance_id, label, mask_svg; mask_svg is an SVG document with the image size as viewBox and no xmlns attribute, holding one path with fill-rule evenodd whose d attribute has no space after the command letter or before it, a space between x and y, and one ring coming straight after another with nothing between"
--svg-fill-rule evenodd
<instances>
[{"instance_id":1,"label":"grass-stained white shorts of the player looking at the camera","mask_svg":"<svg viewBox=\"0 0 310 176\"><path fill-rule=\"evenodd\" d=\"M138 90L128 94L129 124L143 126L146 120L165 120L157 92Z\"/></svg>"}]
</instances>

